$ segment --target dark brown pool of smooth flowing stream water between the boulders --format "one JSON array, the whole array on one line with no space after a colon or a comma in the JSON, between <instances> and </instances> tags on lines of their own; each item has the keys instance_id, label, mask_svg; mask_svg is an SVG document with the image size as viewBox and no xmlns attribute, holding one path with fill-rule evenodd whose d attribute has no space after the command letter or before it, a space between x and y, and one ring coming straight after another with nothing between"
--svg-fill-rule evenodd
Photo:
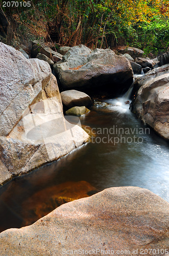
<instances>
[{"instance_id":1,"label":"dark brown pool of smooth flowing stream water between the boulders","mask_svg":"<svg viewBox=\"0 0 169 256\"><path fill-rule=\"evenodd\" d=\"M126 96L95 102L80 118L93 135L91 143L0 188L1 231L34 222L25 219L35 214L49 188L70 181L86 181L96 191L139 186L169 201L169 144L137 120L125 101ZM38 191L42 198L30 201Z\"/></svg>"}]
</instances>

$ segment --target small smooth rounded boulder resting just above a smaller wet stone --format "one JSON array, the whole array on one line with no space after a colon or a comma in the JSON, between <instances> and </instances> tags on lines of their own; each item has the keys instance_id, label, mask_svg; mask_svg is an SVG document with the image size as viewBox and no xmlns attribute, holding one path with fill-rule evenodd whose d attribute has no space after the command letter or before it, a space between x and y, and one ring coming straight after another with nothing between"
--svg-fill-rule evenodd
<instances>
[{"instance_id":1,"label":"small smooth rounded boulder resting just above a smaller wet stone","mask_svg":"<svg viewBox=\"0 0 169 256\"><path fill-rule=\"evenodd\" d=\"M68 90L61 93L62 103L67 108L73 108L73 106L90 106L92 100L89 95L76 90Z\"/></svg>"}]
</instances>

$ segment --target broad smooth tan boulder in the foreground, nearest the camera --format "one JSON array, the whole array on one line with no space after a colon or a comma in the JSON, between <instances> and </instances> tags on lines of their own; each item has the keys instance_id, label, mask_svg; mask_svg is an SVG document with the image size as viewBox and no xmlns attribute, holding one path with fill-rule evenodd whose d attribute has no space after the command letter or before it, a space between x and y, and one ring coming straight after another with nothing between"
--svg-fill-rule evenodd
<instances>
[{"instance_id":1,"label":"broad smooth tan boulder in the foreground, nearest the camera","mask_svg":"<svg viewBox=\"0 0 169 256\"><path fill-rule=\"evenodd\" d=\"M79 249L94 255L97 248L97 255L108 250L134 255L133 249L141 255L141 249L168 248L168 214L169 204L147 189L108 188L64 204L31 226L2 232L1 255L62 255Z\"/></svg>"}]
</instances>

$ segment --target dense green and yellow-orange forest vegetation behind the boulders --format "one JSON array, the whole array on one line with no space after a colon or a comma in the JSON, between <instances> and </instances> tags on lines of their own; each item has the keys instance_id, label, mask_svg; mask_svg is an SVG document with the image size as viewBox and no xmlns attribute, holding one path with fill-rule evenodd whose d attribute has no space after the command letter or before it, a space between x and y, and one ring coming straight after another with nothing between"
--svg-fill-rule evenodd
<instances>
[{"instance_id":1,"label":"dense green and yellow-orange forest vegetation behind the boulders","mask_svg":"<svg viewBox=\"0 0 169 256\"><path fill-rule=\"evenodd\" d=\"M129 45L156 54L168 48L168 0L32 0L31 7L4 11L58 47Z\"/></svg>"}]
</instances>

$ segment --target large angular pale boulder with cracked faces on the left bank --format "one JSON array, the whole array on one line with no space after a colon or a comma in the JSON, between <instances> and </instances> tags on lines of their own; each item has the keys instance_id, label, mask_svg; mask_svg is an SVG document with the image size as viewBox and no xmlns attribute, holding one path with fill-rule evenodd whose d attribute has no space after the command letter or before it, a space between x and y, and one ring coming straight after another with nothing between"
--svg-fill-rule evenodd
<instances>
[{"instance_id":1,"label":"large angular pale boulder with cracked faces on the left bank","mask_svg":"<svg viewBox=\"0 0 169 256\"><path fill-rule=\"evenodd\" d=\"M47 62L0 43L0 181L57 160L88 141L63 116Z\"/></svg>"}]
</instances>

